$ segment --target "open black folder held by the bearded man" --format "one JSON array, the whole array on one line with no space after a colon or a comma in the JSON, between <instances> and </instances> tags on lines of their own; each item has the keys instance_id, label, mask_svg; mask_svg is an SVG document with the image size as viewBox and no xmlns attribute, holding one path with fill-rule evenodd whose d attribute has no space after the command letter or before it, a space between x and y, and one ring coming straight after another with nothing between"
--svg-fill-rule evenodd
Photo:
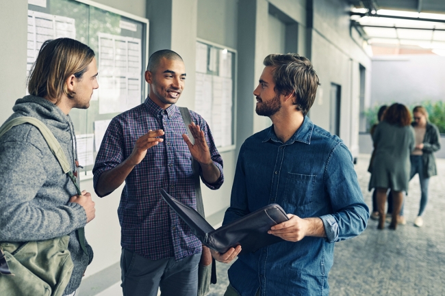
<instances>
[{"instance_id":1,"label":"open black folder held by the bearded man","mask_svg":"<svg viewBox=\"0 0 445 296\"><path fill-rule=\"evenodd\" d=\"M192 232L207 247L225 253L231 247L241 245L240 255L255 252L261 247L283 241L280 237L268 234L274 225L288 221L288 215L278 204L269 204L231 224L214 229L194 208L175 200L164 189L162 198L183 219Z\"/></svg>"}]
</instances>

